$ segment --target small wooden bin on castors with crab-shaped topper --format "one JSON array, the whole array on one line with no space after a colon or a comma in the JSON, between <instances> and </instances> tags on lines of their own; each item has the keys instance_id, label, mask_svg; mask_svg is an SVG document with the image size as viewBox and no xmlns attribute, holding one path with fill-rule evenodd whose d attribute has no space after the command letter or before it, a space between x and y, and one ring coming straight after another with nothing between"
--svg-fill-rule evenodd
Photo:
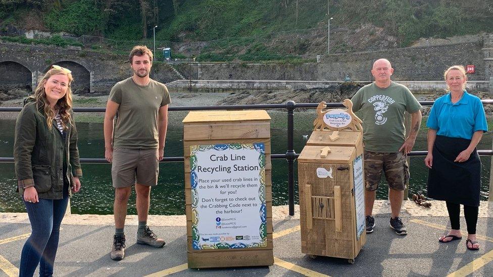
<instances>
[{"instance_id":1,"label":"small wooden bin on castors with crab-shaped topper","mask_svg":"<svg viewBox=\"0 0 493 277\"><path fill-rule=\"evenodd\" d=\"M317 108L314 131L298 158L302 252L346 258L366 243L361 120L347 110Z\"/></svg>"}]
</instances>

